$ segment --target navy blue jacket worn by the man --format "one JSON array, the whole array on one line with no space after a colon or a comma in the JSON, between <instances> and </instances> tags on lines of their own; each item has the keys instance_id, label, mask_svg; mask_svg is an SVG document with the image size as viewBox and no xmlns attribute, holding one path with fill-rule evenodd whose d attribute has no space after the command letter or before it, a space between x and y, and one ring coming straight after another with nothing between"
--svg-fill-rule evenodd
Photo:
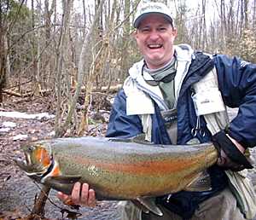
<instances>
[{"instance_id":1,"label":"navy blue jacket worn by the man","mask_svg":"<svg viewBox=\"0 0 256 220\"><path fill-rule=\"evenodd\" d=\"M252 148L256 145L256 65L241 61L238 58L229 58L225 55L214 55L213 59L195 53L194 60L183 80L177 100L177 144L185 144L193 138L191 129L195 127L197 116L191 98L191 85L200 81L207 72L215 66L218 74L218 86L224 104L228 107L239 107L235 119L230 122L229 135L240 142L242 146ZM140 104L140 103L138 103ZM143 104L143 103L141 103ZM152 115L152 142L155 144L172 144L166 132L164 120L160 115L160 108L154 103L155 113ZM211 133L201 117L201 128L206 136L196 137L200 142L211 140ZM112 113L108 124L108 137L129 138L143 132L141 119L137 115L126 115L126 96L120 90L113 103ZM179 192L172 194L171 202L163 204L183 218L193 215L199 203L216 194L227 185L224 171L213 165L209 169L212 177L212 190L207 192ZM164 198L164 197L163 197ZM162 198L160 198L161 201ZM160 202L161 203L161 202Z\"/></svg>"}]
</instances>

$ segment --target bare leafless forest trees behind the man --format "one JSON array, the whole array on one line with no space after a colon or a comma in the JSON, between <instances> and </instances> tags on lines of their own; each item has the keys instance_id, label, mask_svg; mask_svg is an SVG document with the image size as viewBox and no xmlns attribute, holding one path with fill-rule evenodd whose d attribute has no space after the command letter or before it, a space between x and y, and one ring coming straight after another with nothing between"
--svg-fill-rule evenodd
<instances>
[{"instance_id":1,"label":"bare leafless forest trees behind the man","mask_svg":"<svg viewBox=\"0 0 256 220\"><path fill-rule=\"evenodd\" d=\"M1 0L0 102L50 94L55 136L83 135L93 92L119 88L141 59L132 20L142 1ZM256 62L256 0L157 2L172 10L176 43Z\"/></svg>"}]
</instances>

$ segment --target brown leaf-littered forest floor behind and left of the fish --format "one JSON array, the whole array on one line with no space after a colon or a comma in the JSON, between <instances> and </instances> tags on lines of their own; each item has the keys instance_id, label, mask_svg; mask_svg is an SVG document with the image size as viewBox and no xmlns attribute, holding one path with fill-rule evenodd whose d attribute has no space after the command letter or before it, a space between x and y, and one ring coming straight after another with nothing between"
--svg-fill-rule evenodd
<instances>
[{"instance_id":1,"label":"brown leaf-littered forest floor behind and left of the fish","mask_svg":"<svg viewBox=\"0 0 256 220\"><path fill-rule=\"evenodd\" d=\"M0 112L17 111L27 114L55 114L54 101L51 99L51 96L27 98L4 96L3 104L0 106ZM98 103L95 103L95 105L97 105L97 110L99 110ZM77 110L79 111L79 107ZM90 125L84 136L104 136L107 129L109 110L110 107L108 106L104 107L104 111L101 113L94 111L94 109L91 111ZM15 123L15 127L9 131L4 131L4 124L10 122ZM54 118L15 119L0 116L0 219L25 219L26 214L31 210L32 206L26 207L26 211L22 211L20 201L16 200L23 199L20 198L20 195L17 199L14 198L15 193L17 193L16 191L22 194L22 190L26 188L26 182L30 183L31 180L25 177L26 175L15 165L13 159L20 154L20 146L26 142L51 138L54 135L54 124ZM73 136L73 134L67 132L66 136ZM24 186L17 186L17 184L23 184L21 182L23 179ZM14 182L18 183L15 184ZM27 191L32 190L31 188L30 186L30 188L24 191L27 193ZM8 204L11 199L13 200L11 201L12 204ZM27 200L27 198L24 198L24 200ZM8 208L5 205L9 206L9 210L7 210ZM108 206L112 206L112 204L106 207Z\"/></svg>"}]
</instances>

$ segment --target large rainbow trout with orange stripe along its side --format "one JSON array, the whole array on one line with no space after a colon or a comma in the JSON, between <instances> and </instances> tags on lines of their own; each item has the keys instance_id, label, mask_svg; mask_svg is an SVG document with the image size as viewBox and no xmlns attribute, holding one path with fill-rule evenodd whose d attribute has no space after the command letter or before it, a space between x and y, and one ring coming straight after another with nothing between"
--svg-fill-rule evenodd
<instances>
[{"instance_id":1,"label":"large rainbow trout with orange stripe along its side","mask_svg":"<svg viewBox=\"0 0 256 220\"><path fill-rule=\"evenodd\" d=\"M154 145L103 137L32 142L23 151L26 159L15 162L37 182L65 194L74 182L87 182L97 199L137 200L158 215L147 198L190 190L218 159L212 143Z\"/></svg>"}]
</instances>

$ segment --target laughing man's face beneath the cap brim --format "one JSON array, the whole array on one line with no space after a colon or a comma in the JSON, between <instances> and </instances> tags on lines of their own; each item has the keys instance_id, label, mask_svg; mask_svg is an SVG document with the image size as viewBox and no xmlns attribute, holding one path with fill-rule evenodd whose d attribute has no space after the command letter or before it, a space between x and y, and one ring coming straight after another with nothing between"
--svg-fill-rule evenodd
<instances>
[{"instance_id":1,"label":"laughing man's face beneath the cap brim","mask_svg":"<svg viewBox=\"0 0 256 220\"><path fill-rule=\"evenodd\" d=\"M166 65L172 59L177 30L160 14L150 14L137 28L137 45L150 69Z\"/></svg>"}]
</instances>

